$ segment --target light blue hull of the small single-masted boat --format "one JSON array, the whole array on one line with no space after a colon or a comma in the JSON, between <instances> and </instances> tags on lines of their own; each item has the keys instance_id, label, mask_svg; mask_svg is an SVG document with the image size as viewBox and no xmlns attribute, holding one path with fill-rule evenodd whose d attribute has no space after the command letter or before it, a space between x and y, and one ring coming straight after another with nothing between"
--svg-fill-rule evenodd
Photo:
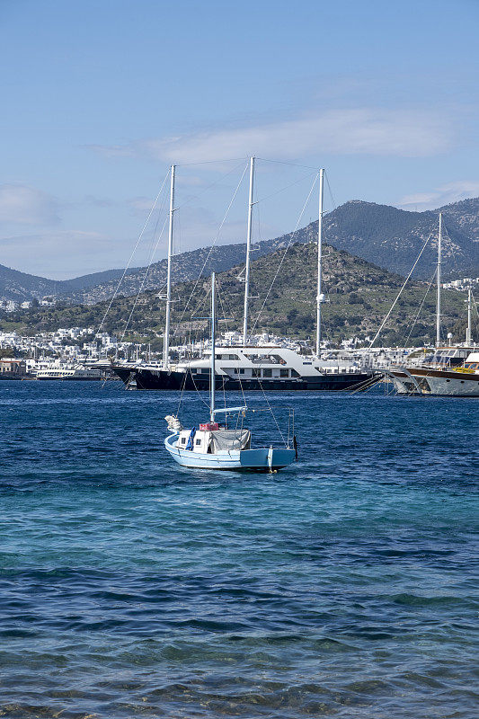
<instances>
[{"instance_id":1,"label":"light blue hull of the small single-masted boat","mask_svg":"<svg viewBox=\"0 0 479 719\"><path fill-rule=\"evenodd\" d=\"M179 465L196 469L233 469L235 471L275 472L292 464L294 449L230 449L216 454L200 454L176 447L177 435L164 439L164 447Z\"/></svg>"}]
</instances>

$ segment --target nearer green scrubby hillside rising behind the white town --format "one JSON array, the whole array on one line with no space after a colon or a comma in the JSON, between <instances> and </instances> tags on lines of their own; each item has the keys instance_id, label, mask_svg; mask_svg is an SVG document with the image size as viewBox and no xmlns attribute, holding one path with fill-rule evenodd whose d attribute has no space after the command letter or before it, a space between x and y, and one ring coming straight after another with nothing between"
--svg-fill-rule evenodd
<instances>
[{"instance_id":1,"label":"nearer green scrubby hillside rising behind the white town","mask_svg":"<svg viewBox=\"0 0 479 719\"><path fill-rule=\"evenodd\" d=\"M252 262L251 323L255 332L269 331L306 339L315 333L315 244L294 244L284 261L284 250L271 253ZM278 272L270 294L271 282ZM226 315L222 329L239 329L243 315L244 284L236 279L237 269L218 275L219 314ZM339 342L344 338L376 333L378 326L392 305L404 278L376 265L353 257L349 253L324 248L324 292L328 299L323 305L324 338ZM173 327L176 338L202 336L206 333L208 314L208 280L201 279L193 292L194 282L183 282L173 288ZM431 287L418 313L427 283L414 282L404 290L381 335L381 342L404 344L411 332L410 343L430 342L434 333L435 294ZM193 295L191 297L191 293ZM191 297L190 301L189 298ZM184 307L189 305L186 311ZM90 306L56 306L32 309L28 312L4 315L0 327L21 333L53 331L58 327L98 328L108 306L107 301ZM264 306L263 306L264 305ZM104 329L122 334L134 306L133 297L118 297L111 304ZM262 314L259 315L262 309ZM464 296L457 291L443 293L443 323L445 333L460 322L464 315ZM164 328L164 300L153 291L138 297L133 309L126 339L152 342L160 349Z\"/></svg>"}]
</instances>

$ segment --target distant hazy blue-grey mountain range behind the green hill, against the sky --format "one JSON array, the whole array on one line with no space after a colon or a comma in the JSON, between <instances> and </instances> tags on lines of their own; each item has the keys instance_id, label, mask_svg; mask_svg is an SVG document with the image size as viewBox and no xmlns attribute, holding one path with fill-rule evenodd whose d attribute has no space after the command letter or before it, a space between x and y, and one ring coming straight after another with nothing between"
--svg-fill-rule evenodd
<instances>
[{"instance_id":1,"label":"distant hazy blue-grey mountain range behind the green hill, against the sky","mask_svg":"<svg viewBox=\"0 0 479 719\"><path fill-rule=\"evenodd\" d=\"M375 262L388 271L406 275L421 247L430 241L421 255L414 276L429 279L435 271L438 244L438 215L443 213L443 277L479 275L479 198L462 200L436 210L410 212L373 202L350 200L324 217L324 239L333 247ZM280 237L254 245L253 257L259 258L291 242L315 241L317 220ZM203 247L176 255L173 280L188 281L211 271L226 271L244 262L245 244ZM123 270L95 272L74 280L48 280L11 270L0 265L0 298L21 301L55 295L73 304L94 304L113 296ZM126 272L120 294L136 295L142 289L164 286L166 261ZM327 288L326 288L327 289Z\"/></svg>"}]
</instances>

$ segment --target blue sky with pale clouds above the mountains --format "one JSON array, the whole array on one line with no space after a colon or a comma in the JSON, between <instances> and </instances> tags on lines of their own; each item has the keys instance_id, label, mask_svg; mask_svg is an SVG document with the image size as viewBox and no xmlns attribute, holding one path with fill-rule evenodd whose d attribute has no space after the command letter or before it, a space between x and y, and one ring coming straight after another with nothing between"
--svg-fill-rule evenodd
<instances>
[{"instance_id":1,"label":"blue sky with pale clouds above the mountains","mask_svg":"<svg viewBox=\"0 0 479 719\"><path fill-rule=\"evenodd\" d=\"M478 21L477 0L0 0L0 263L124 266L173 162L177 252L244 240L251 154L324 166L325 209L479 195ZM317 217L314 170L257 168L256 239ZM165 200L134 265L164 256Z\"/></svg>"}]
</instances>

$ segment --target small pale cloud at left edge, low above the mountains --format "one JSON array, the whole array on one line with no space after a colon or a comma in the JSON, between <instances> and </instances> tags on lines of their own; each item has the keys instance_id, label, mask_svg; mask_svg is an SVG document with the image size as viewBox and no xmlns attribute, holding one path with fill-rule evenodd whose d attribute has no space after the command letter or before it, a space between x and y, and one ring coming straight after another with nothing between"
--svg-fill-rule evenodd
<instances>
[{"instance_id":1,"label":"small pale cloud at left edge, low above the mountains","mask_svg":"<svg viewBox=\"0 0 479 719\"><path fill-rule=\"evenodd\" d=\"M57 201L34 187L2 184L0 220L15 225L54 225L59 221Z\"/></svg>"}]
</instances>

